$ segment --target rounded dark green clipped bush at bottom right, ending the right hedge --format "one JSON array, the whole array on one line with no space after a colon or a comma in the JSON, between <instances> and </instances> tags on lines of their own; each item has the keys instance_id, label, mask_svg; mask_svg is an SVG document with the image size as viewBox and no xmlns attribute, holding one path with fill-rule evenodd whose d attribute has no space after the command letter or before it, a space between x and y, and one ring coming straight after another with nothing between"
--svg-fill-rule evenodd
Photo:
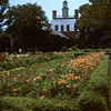
<instances>
[{"instance_id":1,"label":"rounded dark green clipped bush at bottom right, ending the right hedge","mask_svg":"<svg viewBox=\"0 0 111 111\"><path fill-rule=\"evenodd\" d=\"M105 98L93 91L83 91L78 102L81 111L108 111Z\"/></svg>"}]
</instances>

